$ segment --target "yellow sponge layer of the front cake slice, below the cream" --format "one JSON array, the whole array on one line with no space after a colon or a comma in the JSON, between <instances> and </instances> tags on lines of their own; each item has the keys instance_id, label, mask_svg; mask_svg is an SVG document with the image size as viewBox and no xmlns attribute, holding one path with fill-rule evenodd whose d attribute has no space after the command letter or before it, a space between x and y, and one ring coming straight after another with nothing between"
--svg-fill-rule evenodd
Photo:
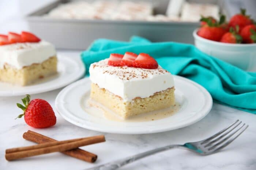
<instances>
[{"instance_id":1,"label":"yellow sponge layer of the front cake slice, below the cream","mask_svg":"<svg viewBox=\"0 0 256 170\"><path fill-rule=\"evenodd\" d=\"M147 98L124 101L121 97L105 90L105 88L99 88L97 84L91 83L90 97L126 119L130 116L173 106L175 103L174 90L174 87L167 88Z\"/></svg>"}]
</instances>

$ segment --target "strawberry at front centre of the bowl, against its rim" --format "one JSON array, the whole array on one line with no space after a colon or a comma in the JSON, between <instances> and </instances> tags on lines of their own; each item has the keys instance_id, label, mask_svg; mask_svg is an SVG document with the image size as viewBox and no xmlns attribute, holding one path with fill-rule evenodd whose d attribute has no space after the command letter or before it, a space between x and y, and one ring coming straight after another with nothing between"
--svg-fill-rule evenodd
<instances>
[{"instance_id":1,"label":"strawberry at front centre of the bowl, against its rim","mask_svg":"<svg viewBox=\"0 0 256 170\"><path fill-rule=\"evenodd\" d=\"M242 43L242 37L241 35L238 34L239 32L239 27L237 25L236 30L233 29L233 27L230 27L229 32L225 33L221 37L221 42L222 43Z\"/></svg>"}]
</instances>

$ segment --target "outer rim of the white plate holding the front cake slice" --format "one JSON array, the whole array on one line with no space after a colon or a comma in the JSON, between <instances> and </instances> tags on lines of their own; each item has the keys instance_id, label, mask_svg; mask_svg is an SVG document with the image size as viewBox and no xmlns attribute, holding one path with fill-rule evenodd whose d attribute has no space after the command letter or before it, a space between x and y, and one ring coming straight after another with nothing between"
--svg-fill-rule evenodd
<instances>
[{"instance_id":1,"label":"outer rim of the white plate holding the front cake slice","mask_svg":"<svg viewBox=\"0 0 256 170\"><path fill-rule=\"evenodd\" d=\"M152 130L147 130L147 131L146 130L138 130L136 132L134 132L134 131L105 130L105 129L102 129L102 128L97 128L97 127L93 127L93 126L89 126L89 125L86 126L86 124L84 124L85 126L82 126L79 123L77 123L76 120L73 120L72 118L69 118L65 114L61 114L61 111L60 111L61 109L59 109L59 107L58 107L58 104L62 103L62 102L58 103L58 100L59 100L59 98L61 98L61 95L65 94L65 91L67 89L72 88L72 86L76 86L77 84L80 84L83 81L86 81L87 79L89 79L89 77L86 77L86 78L83 78L81 80L78 80L78 81L76 81L76 82L74 82L72 84L69 84L69 86L63 88L63 90L61 90L59 92L59 94L56 96L55 108L56 108L57 112L59 113L59 115L61 117L63 117L65 120L67 120L69 123L72 123L75 126L82 127L84 129L99 131L99 132L103 132L103 133L114 133L114 134L153 134L153 133L160 133L160 132L180 129L182 127L189 126L189 125L194 124L194 123L200 121L201 119L203 119L211 111L213 101L212 101L212 97L211 97L210 93L203 86L201 86L200 84L198 84L196 82L193 82L192 80L189 80L187 78L181 77L181 76L177 76L177 75L173 75L173 76L174 76L174 78L183 79L185 81L188 81L189 83L192 83L194 86L198 87L202 91L203 95L205 97L207 97L208 100L209 100L209 101L206 102L206 104L204 105L202 110L200 110L199 113L197 113L196 117L191 122L181 123L181 124L178 124L175 127L166 127L166 128L162 128L162 129L154 130L154 131L152 131ZM69 112L68 110L66 110L66 111Z\"/></svg>"}]
</instances>

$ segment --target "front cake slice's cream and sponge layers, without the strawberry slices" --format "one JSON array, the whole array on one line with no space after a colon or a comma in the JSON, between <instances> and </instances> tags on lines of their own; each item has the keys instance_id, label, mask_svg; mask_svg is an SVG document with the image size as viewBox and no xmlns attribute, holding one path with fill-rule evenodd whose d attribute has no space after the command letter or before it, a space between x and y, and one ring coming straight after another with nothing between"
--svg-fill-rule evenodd
<instances>
[{"instance_id":1,"label":"front cake slice's cream and sponge layers, without the strawberry slices","mask_svg":"<svg viewBox=\"0 0 256 170\"><path fill-rule=\"evenodd\" d=\"M174 80L170 72L158 65L146 69L108 63L109 59L105 59L90 66L91 99L123 119L174 105Z\"/></svg>"}]
</instances>

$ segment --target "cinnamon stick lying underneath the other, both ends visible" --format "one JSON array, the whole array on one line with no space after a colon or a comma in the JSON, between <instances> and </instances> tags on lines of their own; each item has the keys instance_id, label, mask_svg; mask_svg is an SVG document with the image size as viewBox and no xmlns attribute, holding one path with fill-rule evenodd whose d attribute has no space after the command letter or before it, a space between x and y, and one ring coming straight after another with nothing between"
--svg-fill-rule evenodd
<instances>
[{"instance_id":1,"label":"cinnamon stick lying underneath the other, both ends visible","mask_svg":"<svg viewBox=\"0 0 256 170\"><path fill-rule=\"evenodd\" d=\"M35 142L35 143L46 143L46 142L54 142L57 141L55 139L46 137L42 134L36 133L34 131L27 131L23 134L23 138L31 141L31 142ZM76 148L76 149L72 149L72 150L68 150L68 151L62 151L61 153L65 154L65 155L69 155L71 157L83 160L83 161L87 161L87 162L95 162L97 160L97 155L87 152L85 150Z\"/></svg>"}]
</instances>

